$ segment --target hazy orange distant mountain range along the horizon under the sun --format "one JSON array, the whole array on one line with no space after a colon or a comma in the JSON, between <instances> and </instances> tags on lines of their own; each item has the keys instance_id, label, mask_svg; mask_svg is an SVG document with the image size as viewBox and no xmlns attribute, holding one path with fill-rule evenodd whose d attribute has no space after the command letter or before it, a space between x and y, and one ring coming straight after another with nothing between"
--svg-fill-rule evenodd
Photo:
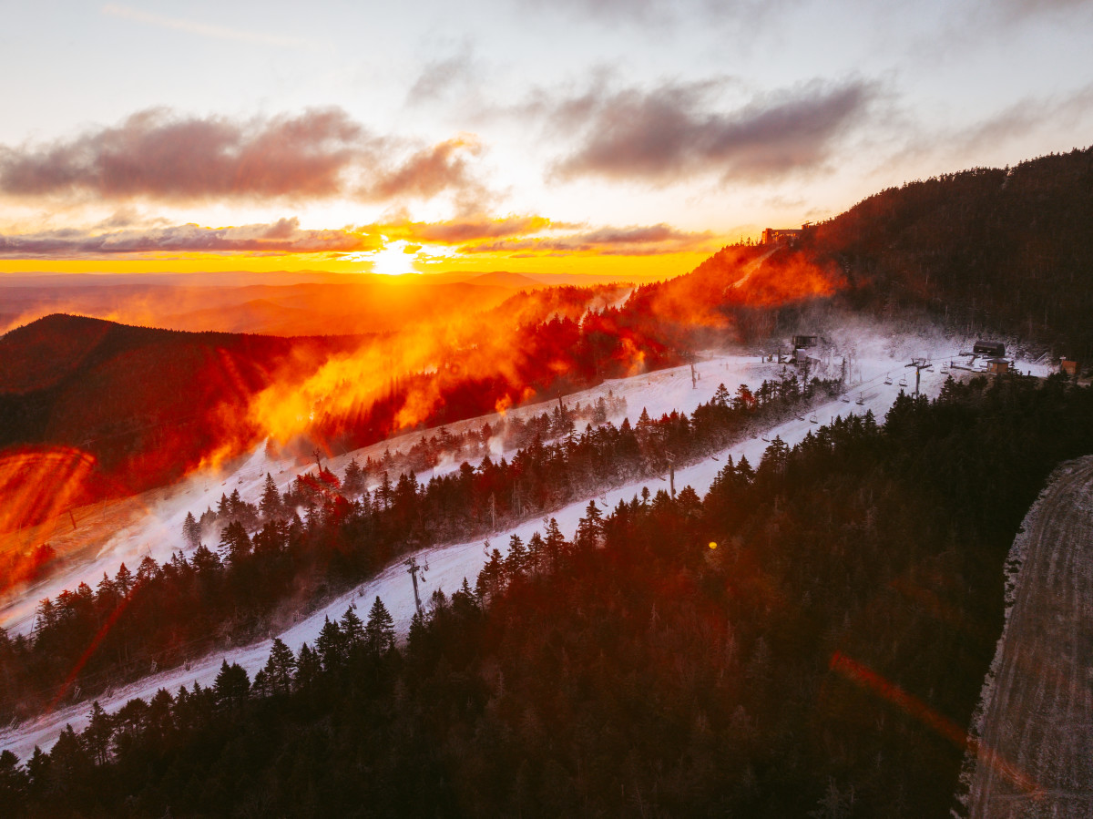
<instances>
[{"instance_id":1,"label":"hazy orange distant mountain range along the horizon under the sun","mask_svg":"<svg viewBox=\"0 0 1093 819\"><path fill-rule=\"evenodd\" d=\"M145 327L269 336L385 332L487 309L520 291L590 286L607 276L504 270L372 273L0 273L0 332L52 313Z\"/></svg>"}]
</instances>

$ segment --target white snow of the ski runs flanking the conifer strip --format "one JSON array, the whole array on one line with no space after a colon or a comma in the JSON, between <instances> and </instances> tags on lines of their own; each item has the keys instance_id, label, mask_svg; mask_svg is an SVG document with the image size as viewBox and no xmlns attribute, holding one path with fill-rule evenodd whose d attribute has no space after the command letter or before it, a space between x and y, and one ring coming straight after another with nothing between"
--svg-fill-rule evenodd
<instances>
[{"instance_id":1,"label":"white snow of the ski runs flanking the conifer strip","mask_svg":"<svg viewBox=\"0 0 1093 819\"><path fill-rule=\"evenodd\" d=\"M971 344L968 339L953 339L940 332L924 330L914 334L884 334L863 323L851 323L830 332L827 337L839 351L828 362L832 371L830 375L837 375L841 371L843 354L847 354L851 362L849 379L851 386L846 395L847 400L836 398L823 406L815 407L801 417L795 417L771 426L762 434L716 453L698 464L677 470L677 490L690 485L700 496L703 495L709 489L718 471L724 468L726 456L731 455L736 460L739 460L741 456L747 456L752 465L757 465L763 452L768 446L768 441L775 436L794 445L801 441L809 430L819 424L828 423L836 416L865 414L867 410L872 410L878 421L882 420L900 391L909 391L914 388L915 371L905 368L906 362L912 356L927 356L939 362L936 372L922 372L921 382L922 393L936 396L947 377L940 372L940 362L955 358L961 349L968 349ZM1046 364L1020 361L1018 366L1022 372L1032 372L1035 375L1047 375L1049 372ZM792 372L792 367L785 370L787 373ZM625 414L630 418L631 423L634 423L640 416L643 408L647 409L653 418L659 418L672 410L691 413L700 403L708 401L721 383L730 393L733 393L740 384L747 384L753 389L757 388L764 378L779 377L784 372L784 365L763 362L759 354L717 352L704 355L696 365L696 371L700 376L696 388L692 388L690 367L680 366L604 382L595 388L568 395L564 400L567 406L573 406L577 401L587 405L600 396L607 396L610 390L615 396L622 396L626 399ZM823 375L823 373L819 374ZM900 386L898 382L903 375L907 376L909 387ZM953 372L954 377L960 375L960 371ZM892 384L885 384L886 376L891 376ZM861 405L857 403L859 398L862 400ZM521 407L509 410L509 412L524 417L538 416L543 411L550 411L553 406L554 402L551 401ZM816 419L815 422L811 421L813 417ZM480 429L486 422L493 425L500 419L498 414L483 416L469 421L447 424L447 429L453 433L462 432L467 429ZM612 421L621 422L622 416L612 419ZM435 430L428 430L424 434L428 436L434 432ZM363 460L367 456L377 458L383 455L387 447L396 452L400 447L412 445L421 435L422 432L419 431L345 453L331 458L325 466L341 473L352 457L357 457L359 460ZM494 454L503 454L500 446ZM458 464L451 463L439 466L436 471L448 471L457 467ZM314 469L314 465L308 468ZM233 489L238 489L239 494L245 500L257 502L267 471L273 476L279 489L283 491L298 472L306 471L306 469L303 465L290 460L271 459L265 447L258 447L232 470L223 473L205 471L190 476L174 488L174 491L166 498L150 507L144 520L118 531L110 538L109 542L99 550L95 560L78 566L60 577L52 578L49 584L36 587L33 589L33 594L27 594L0 610L0 625L14 632L25 632L32 625L36 600L42 599L45 595L55 596L63 588L73 588L80 581L94 585L104 571L113 575L121 561L132 561L130 569L133 569L133 564L139 562L145 553L162 561L164 558L168 558L173 551L185 550L181 526L187 512L192 511L196 516L200 515L207 506L215 505L221 493L231 494ZM419 480L427 482L433 473L433 470L427 470L419 475ZM668 478L660 476L643 479L616 489L606 490L556 510L548 517L556 518L562 533L566 537L572 537L590 499L595 498L607 512L613 508L619 501L630 501L635 495L640 494L643 487L648 487L650 492L656 493L658 489L667 489ZM502 554L505 554L512 535L519 535L527 542L532 533L542 531L542 529L543 520L532 518L514 528L495 533L490 536L489 540L491 548L496 547ZM428 563L425 584L421 592L422 599L425 600L436 588L443 589L446 594L455 592L462 583L463 577L473 585L478 573L486 561L487 552L483 540L478 539L424 549L416 552L414 557L419 563ZM279 636L290 648L297 652L304 642L314 644L327 617L331 620L341 619L349 606L359 604L363 619L363 612L367 611L373 599L377 596L384 600L391 612L398 633L404 635L414 612L413 587L403 565L404 560L406 558L399 559L375 577L321 606ZM107 711L115 711L130 699L150 698L161 688L174 692L179 686L192 686L195 681L202 686L209 686L212 685L223 659L227 659L228 663L238 663L254 677L255 672L266 664L271 645L272 640L270 639L248 646L216 652L203 659L190 663L186 667L162 671L107 692L98 700ZM10 749L21 759L26 759L35 745L48 749L56 741L66 724L70 723L75 729L82 729L87 723L90 709L91 702L84 701L44 715L36 721L0 729L0 750Z\"/></svg>"}]
</instances>

